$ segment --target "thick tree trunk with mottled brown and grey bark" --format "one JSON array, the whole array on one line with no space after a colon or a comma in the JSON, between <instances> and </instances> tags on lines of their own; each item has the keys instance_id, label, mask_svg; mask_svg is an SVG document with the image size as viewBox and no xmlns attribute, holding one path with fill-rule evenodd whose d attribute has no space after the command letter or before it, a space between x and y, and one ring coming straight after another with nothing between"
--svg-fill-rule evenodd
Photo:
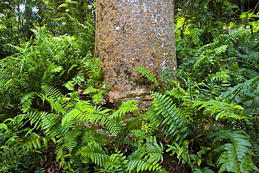
<instances>
[{"instance_id":1,"label":"thick tree trunk with mottled brown and grey bark","mask_svg":"<svg viewBox=\"0 0 259 173\"><path fill-rule=\"evenodd\" d=\"M174 1L97 0L95 57L101 60L109 97L148 93L151 83L134 67L159 77L176 69Z\"/></svg>"}]
</instances>

